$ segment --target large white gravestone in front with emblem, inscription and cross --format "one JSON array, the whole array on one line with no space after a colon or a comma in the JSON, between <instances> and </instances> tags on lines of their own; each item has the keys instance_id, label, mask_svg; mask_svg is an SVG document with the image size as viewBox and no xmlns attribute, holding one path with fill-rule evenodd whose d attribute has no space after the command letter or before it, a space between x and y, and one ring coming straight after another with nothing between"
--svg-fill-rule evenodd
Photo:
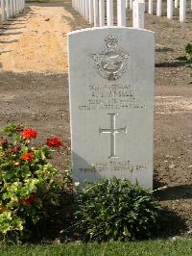
<instances>
[{"instance_id":1,"label":"large white gravestone in front with emblem, inscription and cross","mask_svg":"<svg viewBox=\"0 0 192 256\"><path fill-rule=\"evenodd\" d=\"M132 28L68 34L75 181L116 176L153 187L155 35Z\"/></svg>"}]
</instances>

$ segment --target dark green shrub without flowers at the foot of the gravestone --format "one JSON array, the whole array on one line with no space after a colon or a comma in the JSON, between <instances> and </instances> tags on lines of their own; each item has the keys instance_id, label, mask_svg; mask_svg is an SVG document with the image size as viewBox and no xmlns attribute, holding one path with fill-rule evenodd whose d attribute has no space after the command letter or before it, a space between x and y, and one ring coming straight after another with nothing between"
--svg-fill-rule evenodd
<instances>
[{"instance_id":1,"label":"dark green shrub without flowers at the foot of the gravestone","mask_svg":"<svg viewBox=\"0 0 192 256\"><path fill-rule=\"evenodd\" d=\"M161 207L129 180L91 184L77 194L75 218L85 241L132 241L157 234Z\"/></svg>"}]
</instances>

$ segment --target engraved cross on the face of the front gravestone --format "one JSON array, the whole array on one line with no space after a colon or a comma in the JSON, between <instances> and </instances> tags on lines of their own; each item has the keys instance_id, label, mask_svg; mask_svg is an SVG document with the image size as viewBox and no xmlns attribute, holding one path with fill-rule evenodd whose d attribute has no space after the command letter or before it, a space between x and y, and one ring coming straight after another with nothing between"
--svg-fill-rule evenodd
<instances>
[{"instance_id":1,"label":"engraved cross on the face of the front gravestone","mask_svg":"<svg viewBox=\"0 0 192 256\"><path fill-rule=\"evenodd\" d=\"M110 156L108 158L118 158L116 156L116 147L115 147L115 137L116 134L119 133L127 133L127 127L123 128L116 128L116 123L115 123L115 117L118 114L108 114L110 115L110 128L109 129L102 129L99 127L99 134L110 134Z\"/></svg>"}]
</instances>

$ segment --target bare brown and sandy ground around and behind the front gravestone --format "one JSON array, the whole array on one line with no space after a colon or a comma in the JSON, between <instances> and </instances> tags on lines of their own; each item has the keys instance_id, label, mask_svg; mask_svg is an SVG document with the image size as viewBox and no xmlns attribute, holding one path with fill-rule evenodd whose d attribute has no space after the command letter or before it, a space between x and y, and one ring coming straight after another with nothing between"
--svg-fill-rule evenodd
<instances>
[{"instance_id":1,"label":"bare brown and sandy ground around and behind the front gravestone","mask_svg":"<svg viewBox=\"0 0 192 256\"><path fill-rule=\"evenodd\" d=\"M66 34L84 27L88 24L67 0L29 4L25 13L0 24L0 127L32 126L37 143L59 136L59 169L70 166ZM182 218L173 229L191 234L192 85L190 69L176 58L192 42L192 12L183 24L178 11L173 20L165 12L146 14L146 29L156 32L155 189L167 186L156 197Z\"/></svg>"}]
</instances>

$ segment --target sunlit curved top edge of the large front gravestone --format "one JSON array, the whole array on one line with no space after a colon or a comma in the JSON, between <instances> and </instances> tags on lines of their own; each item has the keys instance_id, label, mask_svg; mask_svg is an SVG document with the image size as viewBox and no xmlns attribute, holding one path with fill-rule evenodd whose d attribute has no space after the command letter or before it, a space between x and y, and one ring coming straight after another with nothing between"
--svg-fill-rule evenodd
<instances>
[{"instance_id":1,"label":"sunlit curved top edge of the large front gravestone","mask_svg":"<svg viewBox=\"0 0 192 256\"><path fill-rule=\"evenodd\" d=\"M103 27L92 27L92 28L86 28L81 30L75 30L67 33L67 36L72 36L81 32L88 32L88 31L95 31L95 30L104 30L104 29L119 29L119 30L135 30L135 31L145 31L148 33L156 34L154 31L146 30L146 29L136 29L133 27L117 27L117 26L103 26Z\"/></svg>"}]
</instances>

